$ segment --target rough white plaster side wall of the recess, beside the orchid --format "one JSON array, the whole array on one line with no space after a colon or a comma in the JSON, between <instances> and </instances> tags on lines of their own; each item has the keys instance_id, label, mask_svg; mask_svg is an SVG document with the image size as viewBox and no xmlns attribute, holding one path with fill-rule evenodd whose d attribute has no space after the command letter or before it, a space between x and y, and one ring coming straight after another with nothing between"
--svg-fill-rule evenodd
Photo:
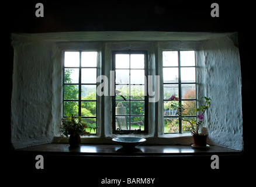
<instances>
[{"instance_id":1,"label":"rough white plaster side wall of the recess, beside the orchid","mask_svg":"<svg viewBox=\"0 0 256 187\"><path fill-rule=\"evenodd\" d=\"M205 123L210 143L243 150L241 68L236 39L235 34L206 40L200 46L198 96L212 99Z\"/></svg>"}]
</instances>

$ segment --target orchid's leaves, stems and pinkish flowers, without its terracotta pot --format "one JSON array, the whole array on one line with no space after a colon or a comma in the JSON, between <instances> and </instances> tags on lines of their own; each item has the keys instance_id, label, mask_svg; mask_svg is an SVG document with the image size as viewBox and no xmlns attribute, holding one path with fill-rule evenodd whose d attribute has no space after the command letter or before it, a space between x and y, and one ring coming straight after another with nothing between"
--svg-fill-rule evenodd
<instances>
[{"instance_id":1,"label":"orchid's leaves, stems and pinkish flowers, without its terracotta pot","mask_svg":"<svg viewBox=\"0 0 256 187\"><path fill-rule=\"evenodd\" d=\"M185 109L183 108L182 104L178 102L178 116L179 116L179 119L181 119L185 122L189 122L189 124L191 124L190 130L191 130L191 133L194 134L194 135L200 135L199 132L198 132L199 131L199 126L201 124L203 124L203 119L205 118L204 113L206 112L206 110L209 109L210 102L212 101L212 99L206 98L205 96L201 97L201 99L205 99L204 105L195 109L195 112L200 112L201 111L201 113L196 116L197 119L190 119L190 120L186 117L182 117L182 111L184 111ZM169 98L169 100L170 101L179 101L179 98L172 95L171 98ZM174 107L174 108L177 107L177 105L174 105L174 104L171 104L171 106Z\"/></svg>"}]
</instances>

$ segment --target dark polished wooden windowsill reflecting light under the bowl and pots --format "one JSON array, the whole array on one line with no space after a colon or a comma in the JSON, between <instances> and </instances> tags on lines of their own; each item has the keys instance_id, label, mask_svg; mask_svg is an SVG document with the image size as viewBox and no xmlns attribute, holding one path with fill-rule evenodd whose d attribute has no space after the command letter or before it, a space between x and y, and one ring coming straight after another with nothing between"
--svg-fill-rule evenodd
<instances>
[{"instance_id":1,"label":"dark polished wooden windowsill reflecting light under the bowl and pots","mask_svg":"<svg viewBox=\"0 0 256 187\"><path fill-rule=\"evenodd\" d=\"M189 145L174 146L148 146L140 145L132 151L123 151L121 146L115 144L81 144L77 148L70 148L69 144L50 143L20 148L16 151L26 153L43 153L43 154L75 154L75 155L101 155L101 156L172 156L172 155L231 155L241 154L241 151L230 148L210 146L206 149L192 148Z\"/></svg>"}]
</instances>

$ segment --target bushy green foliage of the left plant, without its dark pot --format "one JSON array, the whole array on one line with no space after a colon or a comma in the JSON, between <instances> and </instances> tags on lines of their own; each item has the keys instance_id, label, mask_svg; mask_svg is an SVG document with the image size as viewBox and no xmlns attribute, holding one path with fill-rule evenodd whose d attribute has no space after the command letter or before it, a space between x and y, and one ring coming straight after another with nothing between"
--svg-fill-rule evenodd
<instances>
[{"instance_id":1,"label":"bushy green foliage of the left plant, without its dark pot","mask_svg":"<svg viewBox=\"0 0 256 187\"><path fill-rule=\"evenodd\" d=\"M70 115L62 118L61 121L62 124L60 125L60 130L65 136L70 134L89 135L91 129L94 129L95 131L97 128L89 127L87 123L82 122L81 116L75 117L74 115ZM87 129L90 129L90 132L88 132Z\"/></svg>"}]
</instances>

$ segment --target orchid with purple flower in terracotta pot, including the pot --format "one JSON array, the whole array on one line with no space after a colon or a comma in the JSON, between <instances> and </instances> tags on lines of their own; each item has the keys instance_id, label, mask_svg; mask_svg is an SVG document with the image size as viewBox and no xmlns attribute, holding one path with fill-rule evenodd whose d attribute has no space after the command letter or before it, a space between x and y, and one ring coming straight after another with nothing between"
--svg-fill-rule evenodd
<instances>
[{"instance_id":1,"label":"orchid with purple flower in terracotta pot, including the pot","mask_svg":"<svg viewBox=\"0 0 256 187\"><path fill-rule=\"evenodd\" d=\"M205 96L201 97L201 99L205 99L205 103L204 103L204 105L195 109L195 112L200 113L199 115L196 116L197 119L190 119L189 120L186 117L182 117L182 111L184 111L185 109L183 108L181 103L178 103L179 119L181 119L185 122L189 122L190 130L191 130L191 133L193 134L193 140L194 140L193 146L195 146L195 147L206 147L206 141L207 141L207 136L208 136L206 130L201 131L201 133L199 133L199 126L201 126L203 124L203 119L205 118L204 113L209 108L209 105L210 105L210 102L212 101L212 99L206 98ZM172 95L171 98L169 98L169 100L179 101L179 98ZM171 104L171 106L175 108L175 106L177 106L177 105Z\"/></svg>"}]
</instances>

